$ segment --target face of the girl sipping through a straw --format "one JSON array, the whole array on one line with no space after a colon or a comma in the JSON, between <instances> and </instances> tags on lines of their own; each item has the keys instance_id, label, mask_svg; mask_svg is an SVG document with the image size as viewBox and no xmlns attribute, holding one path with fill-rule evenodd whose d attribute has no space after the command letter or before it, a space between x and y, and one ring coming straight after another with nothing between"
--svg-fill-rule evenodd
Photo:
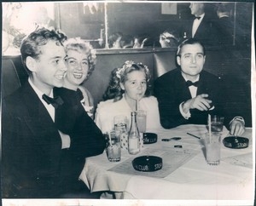
<instances>
[{"instance_id":1,"label":"face of the girl sipping through a straw","mask_svg":"<svg viewBox=\"0 0 256 206\"><path fill-rule=\"evenodd\" d=\"M146 74L143 71L133 71L127 74L125 83L120 83L125 90L125 98L140 100L143 98L147 89Z\"/></svg>"}]
</instances>

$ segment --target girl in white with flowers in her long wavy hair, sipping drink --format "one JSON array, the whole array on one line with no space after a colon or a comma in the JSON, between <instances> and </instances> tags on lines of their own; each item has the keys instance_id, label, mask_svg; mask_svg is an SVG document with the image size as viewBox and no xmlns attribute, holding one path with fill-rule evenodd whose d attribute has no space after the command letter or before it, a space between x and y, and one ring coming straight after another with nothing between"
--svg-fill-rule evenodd
<instances>
[{"instance_id":1,"label":"girl in white with flowers in her long wavy hair, sipping drink","mask_svg":"<svg viewBox=\"0 0 256 206\"><path fill-rule=\"evenodd\" d=\"M147 112L147 131L160 128L158 102L150 95L148 67L132 60L111 72L108 89L96 109L96 124L102 132L113 129L113 117L125 116L130 127L131 112Z\"/></svg>"}]
</instances>

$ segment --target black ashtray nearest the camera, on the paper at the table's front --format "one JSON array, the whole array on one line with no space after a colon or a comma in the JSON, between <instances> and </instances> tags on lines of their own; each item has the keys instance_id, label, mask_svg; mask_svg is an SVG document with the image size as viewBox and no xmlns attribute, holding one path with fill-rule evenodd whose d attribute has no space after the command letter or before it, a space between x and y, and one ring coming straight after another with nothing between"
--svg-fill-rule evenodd
<instances>
[{"instance_id":1,"label":"black ashtray nearest the camera, on the paper at the table's front","mask_svg":"<svg viewBox=\"0 0 256 206\"><path fill-rule=\"evenodd\" d=\"M163 160L157 156L141 156L132 160L132 166L137 171L153 172L162 169Z\"/></svg>"}]
</instances>

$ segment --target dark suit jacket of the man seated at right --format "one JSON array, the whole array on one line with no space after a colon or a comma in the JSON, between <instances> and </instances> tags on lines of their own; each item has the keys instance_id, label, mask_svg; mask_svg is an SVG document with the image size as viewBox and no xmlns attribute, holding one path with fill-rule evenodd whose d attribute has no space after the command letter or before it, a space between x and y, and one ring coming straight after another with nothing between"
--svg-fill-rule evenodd
<instances>
[{"instance_id":1,"label":"dark suit jacket of the man seated at right","mask_svg":"<svg viewBox=\"0 0 256 206\"><path fill-rule=\"evenodd\" d=\"M224 87L218 77L202 71L197 88L198 94L209 94L209 99L212 100L212 106L215 108L210 111L211 114L215 113L226 117L223 110ZM160 123L165 129L186 123L207 124L208 111L201 112L192 109L190 110L191 117L188 120L179 112L179 105L192 98L180 69L172 70L158 77L154 82L154 95L159 101Z\"/></svg>"}]
</instances>

